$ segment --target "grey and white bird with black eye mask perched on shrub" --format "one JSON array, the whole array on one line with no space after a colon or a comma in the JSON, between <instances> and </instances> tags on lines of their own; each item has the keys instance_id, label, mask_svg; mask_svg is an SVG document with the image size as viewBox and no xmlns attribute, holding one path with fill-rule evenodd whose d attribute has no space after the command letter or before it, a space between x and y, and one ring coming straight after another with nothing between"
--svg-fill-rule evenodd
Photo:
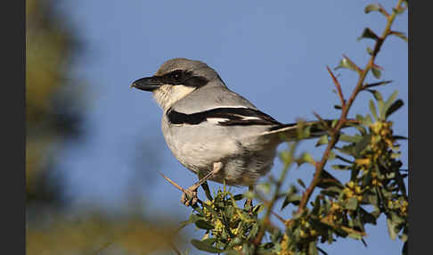
<instances>
[{"instance_id":1,"label":"grey and white bird with black eye mask perched on shrub","mask_svg":"<svg viewBox=\"0 0 433 255\"><path fill-rule=\"evenodd\" d=\"M151 77L132 85L151 92L162 110L161 130L176 159L202 178L184 190L186 206L198 201L208 180L253 186L268 173L284 141L298 139L298 123L283 124L225 85L205 62L167 60ZM331 120L326 120L331 121ZM310 136L323 136L323 121L307 121ZM282 138L284 137L284 138Z\"/></svg>"}]
</instances>

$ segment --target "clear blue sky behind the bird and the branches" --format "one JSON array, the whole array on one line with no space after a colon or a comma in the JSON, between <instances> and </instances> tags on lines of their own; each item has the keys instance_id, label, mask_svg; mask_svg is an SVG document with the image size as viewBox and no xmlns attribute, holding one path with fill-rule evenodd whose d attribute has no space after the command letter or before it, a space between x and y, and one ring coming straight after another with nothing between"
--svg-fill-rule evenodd
<instances>
[{"instance_id":1,"label":"clear blue sky behind the bird and the branches","mask_svg":"<svg viewBox=\"0 0 433 255\"><path fill-rule=\"evenodd\" d=\"M381 33L385 19L379 12L364 14L370 1L85 1L64 2L61 7L86 44L73 75L87 81L88 140L61 155L65 189L73 206L94 203L115 210L126 203L130 186L143 199L146 214L183 220L191 209L180 204L180 193L158 172L183 186L195 176L169 152L160 132L161 111L151 95L129 88L137 78L150 76L159 65L174 57L207 62L227 86L281 122L298 118L338 118L332 108L339 98L326 66L335 67L342 53L361 67L372 41L356 41L370 27ZM396 1L381 1L388 10ZM407 12L398 16L393 29L407 33ZM391 118L396 134L408 134L407 44L390 37L377 64L383 79L394 82L381 89L388 97L394 90L404 107ZM343 93L352 91L356 75L339 70ZM371 76L368 80L374 80ZM369 111L363 93L350 116ZM142 146L138 144L143 143ZM316 158L323 150L315 141L301 144ZM282 145L281 149L284 148ZM143 152L142 152L143 151ZM402 143L407 166L407 142ZM139 156L141 160L136 159ZM140 163L137 166L137 162ZM278 159L272 174L278 175ZM139 174L137 174L137 171ZM308 167L291 169L286 185L313 175ZM143 184L142 184L143 183ZM216 189L217 184L211 184ZM235 189L238 192L238 189ZM239 192L242 192L239 189ZM200 195L200 194L199 194ZM150 206L151 205L151 206ZM167 209L170 210L167 210ZM287 213L290 213L289 211ZM402 243L391 241L381 218L379 226L367 228L368 248L353 240L323 246L329 254L397 254ZM193 227L185 229L194 234ZM193 250L194 251L194 250ZM192 254L199 254L192 252Z\"/></svg>"}]
</instances>

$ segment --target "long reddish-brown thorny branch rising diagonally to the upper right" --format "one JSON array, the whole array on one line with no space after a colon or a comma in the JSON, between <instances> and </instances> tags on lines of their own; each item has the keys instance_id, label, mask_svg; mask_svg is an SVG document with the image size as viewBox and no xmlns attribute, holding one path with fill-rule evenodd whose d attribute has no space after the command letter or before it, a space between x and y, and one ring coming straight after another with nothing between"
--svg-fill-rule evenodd
<instances>
[{"instance_id":1,"label":"long reddish-brown thorny branch rising diagonally to the upper right","mask_svg":"<svg viewBox=\"0 0 433 255\"><path fill-rule=\"evenodd\" d=\"M402 4L403 4L403 0L399 0L396 5L396 9L397 10L400 9ZM388 15L387 25L382 33L382 36L378 37L378 39L376 40L376 44L374 45L374 50L370 58L370 61L365 66L364 70L360 72L358 81L356 83L354 91L352 92L352 95L350 95L347 102L341 106L341 115L339 118L339 122L337 122L337 125L331 130L331 142L326 147L326 150L323 153L322 160L320 160L318 164L315 164L315 175L310 185L308 185L308 187L306 188L305 193L302 194L302 198L301 198L301 202L299 203L297 214L302 213L306 209L307 202L309 201L312 193L315 191L316 185L319 184L323 167L326 164L332 149L334 148L335 144L337 144L339 140L339 130L341 130L341 128L344 127L344 125L347 123L347 114L350 107L355 101L356 95L358 95L358 93L364 89L363 86L364 79L366 78L368 72L372 70L373 67L377 67L374 64L374 61L376 59L377 54L380 51L381 45L383 45L383 42L391 33L390 28L395 18L396 18L396 12L393 12L391 15ZM331 74L331 76L333 77L333 74ZM339 88L339 85L336 84L336 86L337 88ZM340 95L340 98L343 98L342 95Z\"/></svg>"}]
</instances>

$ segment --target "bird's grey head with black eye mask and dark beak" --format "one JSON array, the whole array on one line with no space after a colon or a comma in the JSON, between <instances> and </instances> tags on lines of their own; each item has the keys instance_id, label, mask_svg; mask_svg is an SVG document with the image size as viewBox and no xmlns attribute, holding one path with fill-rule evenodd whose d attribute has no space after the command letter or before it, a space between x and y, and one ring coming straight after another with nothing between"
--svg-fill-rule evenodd
<instances>
[{"instance_id":1,"label":"bird's grey head with black eye mask and dark beak","mask_svg":"<svg viewBox=\"0 0 433 255\"><path fill-rule=\"evenodd\" d=\"M151 91L156 102L166 111L173 103L216 79L221 80L206 63L176 58L164 62L153 76L137 79L131 86Z\"/></svg>"}]
</instances>

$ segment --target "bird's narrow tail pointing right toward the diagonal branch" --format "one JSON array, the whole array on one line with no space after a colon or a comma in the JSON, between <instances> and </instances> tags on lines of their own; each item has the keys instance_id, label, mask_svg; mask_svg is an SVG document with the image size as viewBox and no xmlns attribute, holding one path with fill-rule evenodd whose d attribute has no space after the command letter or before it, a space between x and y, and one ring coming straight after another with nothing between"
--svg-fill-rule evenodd
<instances>
[{"instance_id":1,"label":"bird's narrow tail pointing right toward the diagonal branch","mask_svg":"<svg viewBox=\"0 0 433 255\"><path fill-rule=\"evenodd\" d=\"M270 127L265 136L282 135L286 140L308 139L323 136L331 128L332 119L323 121L299 121Z\"/></svg>"}]
</instances>

